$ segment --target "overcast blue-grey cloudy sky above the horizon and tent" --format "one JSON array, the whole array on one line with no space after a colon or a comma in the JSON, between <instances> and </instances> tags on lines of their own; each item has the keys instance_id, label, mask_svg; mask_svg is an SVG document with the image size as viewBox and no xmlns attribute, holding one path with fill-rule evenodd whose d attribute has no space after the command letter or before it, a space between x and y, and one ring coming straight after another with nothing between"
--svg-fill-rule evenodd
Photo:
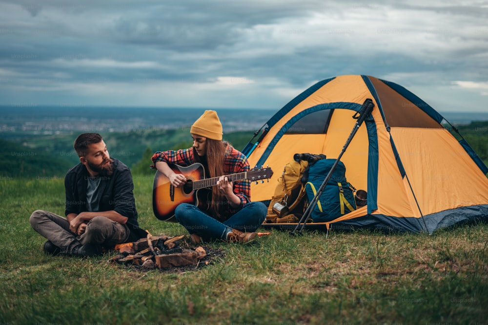
<instances>
[{"instance_id":1,"label":"overcast blue-grey cloudy sky above the horizon and tent","mask_svg":"<svg viewBox=\"0 0 488 325\"><path fill-rule=\"evenodd\" d=\"M0 105L278 109L343 74L487 112L488 1L0 1Z\"/></svg>"}]
</instances>

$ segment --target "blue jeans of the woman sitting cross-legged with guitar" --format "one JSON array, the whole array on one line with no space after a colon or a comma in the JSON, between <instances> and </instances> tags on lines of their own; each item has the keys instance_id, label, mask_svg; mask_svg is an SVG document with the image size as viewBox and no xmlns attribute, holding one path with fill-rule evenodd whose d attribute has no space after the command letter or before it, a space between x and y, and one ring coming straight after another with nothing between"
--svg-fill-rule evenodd
<instances>
[{"instance_id":1,"label":"blue jeans of the woman sitting cross-legged with guitar","mask_svg":"<svg viewBox=\"0 0 488 325\"><path fill-rule=\"evenodd\" d=\"M203 239L226 239L232 229L255 232L266 218L267 208L262 202L249 202L235 215L224 222L203 213L196 206L181 203L176 207L175 217L190 234Z\"/></svg>"}]
</instances>

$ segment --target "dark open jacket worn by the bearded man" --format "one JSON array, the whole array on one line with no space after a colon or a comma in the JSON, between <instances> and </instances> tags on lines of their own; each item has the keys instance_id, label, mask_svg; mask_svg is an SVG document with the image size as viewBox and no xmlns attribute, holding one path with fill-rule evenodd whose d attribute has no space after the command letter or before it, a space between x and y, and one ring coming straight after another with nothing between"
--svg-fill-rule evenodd
<instances>
[{"instance_id":1,"label":"dark open jacket worn by the bearded man","mask_svg":"<svg viewBox=\"0 0 488 325\"><path fill-rule=\"evenodd\" d=\"M139 228L137 222L137 210L134 199L134 183L132 175L127 166L120 160L114 159L112 163L114 173L111 176L100 176L100 198L99 211L114 210L122 216L127 217L126 225L129 227L130 236L128 241L135 241L146 237L147 233ZM65 215L70 213L79 214L86 209L86 188L88 183L88 171L85 165L79 163L71 168L64 177L64 189L66 191Z\"/></svg>"}]
</instances>

